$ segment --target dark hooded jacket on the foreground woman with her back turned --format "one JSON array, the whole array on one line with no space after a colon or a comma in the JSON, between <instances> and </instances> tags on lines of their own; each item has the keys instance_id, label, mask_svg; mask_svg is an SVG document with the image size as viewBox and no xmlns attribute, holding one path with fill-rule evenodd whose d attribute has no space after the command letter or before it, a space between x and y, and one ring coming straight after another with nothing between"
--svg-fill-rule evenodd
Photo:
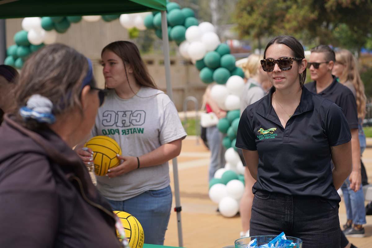
<instances>
[{"instance_id":1,"label":"dark hooded jacket on the foreground woman with her back turned","mask_svg":"<svg viewBox=\"0 0 372 248\"><path fill-rule=\"evenodd\" d=\"M0 127L0 247L121 247L115 218L78 155L53 131Z\"/></svg>"}]
</instances>

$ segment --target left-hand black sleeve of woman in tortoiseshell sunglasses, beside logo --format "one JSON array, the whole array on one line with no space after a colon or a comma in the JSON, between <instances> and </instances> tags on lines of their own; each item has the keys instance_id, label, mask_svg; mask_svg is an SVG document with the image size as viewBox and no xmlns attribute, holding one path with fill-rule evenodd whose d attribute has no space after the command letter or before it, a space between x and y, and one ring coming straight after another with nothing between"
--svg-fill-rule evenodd
<instances>
[{"instance_id":1,"label":"left-hand black sleeve of woman in tortoiseshell sunglasses, beside logo","mask_svg":"<svg viewBox=\"0 0 372 248\"><path fill-rule=\"evenodd\" d=\"M245 109L240 117L235 146L241 149L256 151L256 136L252 131L251 118L248 117L249 111L251 111L250 108Z\"/></svg>"}]
</instances>

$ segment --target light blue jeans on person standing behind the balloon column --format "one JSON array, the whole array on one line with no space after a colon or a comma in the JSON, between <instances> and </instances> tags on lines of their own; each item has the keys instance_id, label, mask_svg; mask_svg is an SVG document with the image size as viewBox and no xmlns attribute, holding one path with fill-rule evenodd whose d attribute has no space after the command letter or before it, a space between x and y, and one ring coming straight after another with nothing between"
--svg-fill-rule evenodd
<instances>
[{"instance_id":1,"label":"light blue jeans on person standing behind the balloon column","mask_svg":"<svg viewBox=\"0 0 372 248\"><path fill-rule=\"evenodd\" d=\"M214 173L225 166L225 149L222 146L222 133L218 131L217 126L206 128L209 150L211 151L211 161L209 163L209 180Z\"/></svg>"}]
</instances>

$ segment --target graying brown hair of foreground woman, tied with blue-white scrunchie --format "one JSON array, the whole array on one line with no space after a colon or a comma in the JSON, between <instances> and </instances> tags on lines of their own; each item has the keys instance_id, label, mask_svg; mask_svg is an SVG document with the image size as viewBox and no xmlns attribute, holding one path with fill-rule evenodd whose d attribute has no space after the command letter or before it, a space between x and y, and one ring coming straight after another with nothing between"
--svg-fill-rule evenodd
<instances>
[{"instance_id":1,"label":"graying brown hair of foreground woman, tied with blue-white scrunchie","mask_svg":"<svg viewBox=\"0 0 372 248\"><path fill-rule=\"evenodd\" d=\"M34 52L23 65L15 88L16 107L12 112L17 122L29 129L46 127L45 123L38 123L34 119L25 122L18 113L34 94L51 100L54 115L67 113L75 107L82 113L80 92L87 71L86 57L69 46L52 44Z\"/></svg>"}]
</instances>

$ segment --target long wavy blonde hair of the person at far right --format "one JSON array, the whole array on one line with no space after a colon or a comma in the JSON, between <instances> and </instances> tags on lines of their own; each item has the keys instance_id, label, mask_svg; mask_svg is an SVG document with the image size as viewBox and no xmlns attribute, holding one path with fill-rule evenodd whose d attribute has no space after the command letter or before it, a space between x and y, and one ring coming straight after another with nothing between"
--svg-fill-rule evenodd
<instances>
[{"instance_id":1,"label":"long wavy blonde hair of the person at far right","mask_svg":"<svg viewBox=\"0 0 372 248\"><path fill-rule=\"evenodd\" d=\"M350 51L341 49L336 52L336 62L346 67L339 77L340 83L344 84L346 81L350 81L353 84L356 91L358 118L364 119L366 115L366 95L363 81L360 79L357 60Z\"/></svg>"}]
</instances>

